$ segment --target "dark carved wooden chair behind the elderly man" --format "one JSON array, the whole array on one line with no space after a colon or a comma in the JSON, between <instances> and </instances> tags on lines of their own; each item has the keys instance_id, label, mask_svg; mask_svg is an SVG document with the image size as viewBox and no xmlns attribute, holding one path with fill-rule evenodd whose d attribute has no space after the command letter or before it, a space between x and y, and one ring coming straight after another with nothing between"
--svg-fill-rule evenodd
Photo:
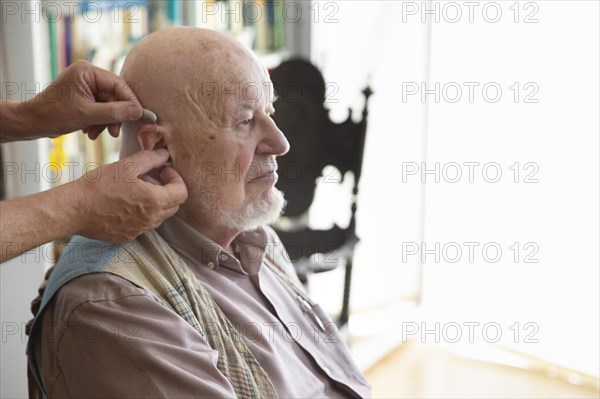
<instances>
[{"instance_id":1,"label":"dark carved wooden chair behind the elderly man","mask_svg":"<svg viewBox=\"0 0 600 399\"><path fill-rule=\"evenodd\" d=\"M326 85L321 72L304 60L288 60L271 71L276 100L273 119L290 142L290 151L278 158L277 187L285 193L287 205L274 228L285 245L301 281L311 273L345 265L342 309L337 320L342 327L348 322L350 284L354 247L359 241L355 231L356 198L361 176L367 128L367 102L372 94L365 88L362 119L355 123L351 115L343 123L329 119L325 108ZM350 111L349 111L350 113ZM335 225L329 230L308 226L308 211L315 196L317 179L326 166L354 175L351 218L348 227ZM337 206L336 204L331 204ZM324 256L313 257L315 253Z\"/></svg>"}]
</instances>

